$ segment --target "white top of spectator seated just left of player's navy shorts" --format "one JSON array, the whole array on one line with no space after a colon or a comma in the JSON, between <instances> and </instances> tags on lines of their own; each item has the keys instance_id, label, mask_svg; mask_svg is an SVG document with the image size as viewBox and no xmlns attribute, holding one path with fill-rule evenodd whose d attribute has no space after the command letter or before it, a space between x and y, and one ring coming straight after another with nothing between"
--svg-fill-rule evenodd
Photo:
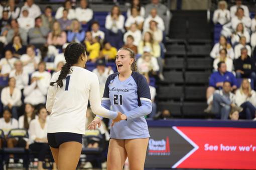
<instances>
[{"instance_id":1,"label":"white top of spectator seated just left of player's navy shorts","mask_svg":"<svg viewBox=\"0 0 256 170\"><path fill-rule=\"evenodd\" d=\"M42 128L38 118L31 120L29 124L29 143L34 143L36 138L47 138L47 129L47 121L45 121L45 126Z\"/></svg>"}]
</instances>

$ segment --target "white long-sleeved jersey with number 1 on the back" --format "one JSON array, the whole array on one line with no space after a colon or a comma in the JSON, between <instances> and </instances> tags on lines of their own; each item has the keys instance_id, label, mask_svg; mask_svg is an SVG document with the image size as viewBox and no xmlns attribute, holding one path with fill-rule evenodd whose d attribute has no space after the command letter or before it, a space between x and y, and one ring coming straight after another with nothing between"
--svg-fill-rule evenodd
<instances>
[{"instance_id":1,"label":"white long-sleeved jersey with number 1 on the back","mask_svg":"<svg viewBox=\"0 0 256 170\"><path fill-rule=\"evenodd\" d=\"M56 81L60 71L53 74L51 82ZM88 100L95 114L114 119L117 112L101 106L99 82L95 73L87 69L71 66L63 80L63 87L49 86L46 108L51 112L48 132L85 133L85 114Z\"/></svg>"}]
</instances>

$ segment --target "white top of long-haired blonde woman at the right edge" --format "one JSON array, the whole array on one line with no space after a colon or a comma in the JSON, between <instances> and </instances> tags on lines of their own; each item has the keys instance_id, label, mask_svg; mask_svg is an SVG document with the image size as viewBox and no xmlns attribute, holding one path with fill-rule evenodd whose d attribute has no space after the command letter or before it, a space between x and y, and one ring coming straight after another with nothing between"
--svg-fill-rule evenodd
<instances>
[{"instance_id":1,"label":"white top of long-haired blonde woman at the right edge","mask_svg":"<svg viewBox=\"0 0 256 170\"><path fill-rule=\"evenodd\" d=\"M248 97L244 93L241 93L240 89L235 92L235 103L240 106L242 103L249 101L252 105L256 106L256 92L251 90L251 96Z\"/></svg>"}]
</instances>

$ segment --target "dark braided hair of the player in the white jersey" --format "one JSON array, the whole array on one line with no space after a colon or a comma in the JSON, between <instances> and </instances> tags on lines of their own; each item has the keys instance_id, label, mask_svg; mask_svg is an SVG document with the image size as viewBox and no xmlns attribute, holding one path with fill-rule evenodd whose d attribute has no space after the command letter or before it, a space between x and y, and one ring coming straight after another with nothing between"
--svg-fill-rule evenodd
<instances>
[{"instance_id":1,"label":"dark braided hair of the player in the white jersey","mask_svg":"<svg viewBox=\"0 0 256 170\"><path fill-rule=\"evenodd\" d=\"M57 82L57 86L62 87L63 86L63 79L66 78L70 67L77 63L79 56L81 54L85 54L85 49L82 44L80 43L70 43L65 49L64 56L66 59L66 63L63 65L60 71L60 75L58 79L54 82L51 82L50 85L54 85L55 82Z\"/></svg>"}]
</instances>

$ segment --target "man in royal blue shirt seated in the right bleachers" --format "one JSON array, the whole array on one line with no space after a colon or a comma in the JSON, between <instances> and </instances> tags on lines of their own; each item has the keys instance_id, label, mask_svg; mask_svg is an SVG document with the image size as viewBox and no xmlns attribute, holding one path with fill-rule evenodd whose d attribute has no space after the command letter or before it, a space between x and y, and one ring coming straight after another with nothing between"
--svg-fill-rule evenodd
<instances>
[{"instance_id":1,"label":"man in royal blue shirt seated in the right bleachers","mask_svg":"<svg viewBox=\"0 0 256 170\"><path fill-rule=\"evenodd\" d=\"M222 89L224 81L230 81L232 90L237 88L237 80L234 74L227 71L227 66L224 61L220 61L218 63L218 71L213 72L210 75L209 86L206 90L206 98L209 99L215 89ZM207 103L209 104L208 100Z\"/></svg>"}]
</instances>

